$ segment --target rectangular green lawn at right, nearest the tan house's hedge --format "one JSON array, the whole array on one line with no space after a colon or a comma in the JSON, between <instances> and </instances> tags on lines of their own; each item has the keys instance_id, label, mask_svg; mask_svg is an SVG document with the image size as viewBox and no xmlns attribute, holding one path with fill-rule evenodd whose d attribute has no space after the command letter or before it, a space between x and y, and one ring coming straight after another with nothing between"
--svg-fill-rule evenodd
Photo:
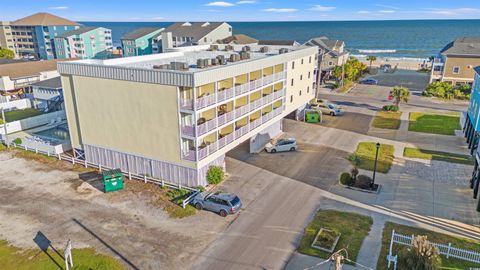
<instances>
[{"instance_id":1,"label":"rectangular green lawn at right, nearest the tan house's hedge","mask_svg":"<svg viewBox=\"0 0 480 270\"><path fill-rule=\"evenodd\" d=\"M455 114L410 113L409 131L455 135L460 129L460 116Z\"/></svg>"}]
</instances>

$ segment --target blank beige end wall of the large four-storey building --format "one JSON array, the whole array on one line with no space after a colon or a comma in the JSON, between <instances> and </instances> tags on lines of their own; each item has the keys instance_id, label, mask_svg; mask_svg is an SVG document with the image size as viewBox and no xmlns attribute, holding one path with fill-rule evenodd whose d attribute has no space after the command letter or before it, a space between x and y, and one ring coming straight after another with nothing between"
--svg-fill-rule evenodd
<instances>
[{"instance_id":1,"label":"blank beige end wall of the large four-storey building","mask_svg":"<svg viewBox=\"0 0 480 270\"><path fill-rule=\"evenodd\" d=\"M62 76L62 84L74 147L90 144L194 167L181 159L177 87L80 76Z\"/></svg>"}]
</instances>

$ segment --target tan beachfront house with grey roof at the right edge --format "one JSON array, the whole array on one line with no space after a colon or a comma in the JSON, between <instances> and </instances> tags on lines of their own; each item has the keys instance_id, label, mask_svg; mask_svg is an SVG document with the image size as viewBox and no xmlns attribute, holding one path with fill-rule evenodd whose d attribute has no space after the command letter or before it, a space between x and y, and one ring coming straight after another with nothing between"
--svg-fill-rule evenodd
<instances>
[{"instance_id":1,"label":"tan beachfront house with grey roof at the right edge","mask_svg":"<svg viewBox=\"0 0 480 270\"><path fill-rule=\"evenodd\" d=\"M430 82L472 84L474 68L480 65L480 38L461 37L449 43L433 60Z\"/></svg>"}]
</instances>

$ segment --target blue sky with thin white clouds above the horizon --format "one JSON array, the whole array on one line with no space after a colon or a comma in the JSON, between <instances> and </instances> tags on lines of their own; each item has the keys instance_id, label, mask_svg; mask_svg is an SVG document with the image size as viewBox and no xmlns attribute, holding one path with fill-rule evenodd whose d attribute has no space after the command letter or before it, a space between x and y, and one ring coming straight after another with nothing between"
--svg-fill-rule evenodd
<instances>
[{"instance_id":1,"label":"blue sky with thin white clouds above the horizon","mask_svg":"<svg viewBox=\"0 0 480 270\"><path fill-rule=\"evenodd\" d=\"M2 4L0 20L15 20L40 11L75 21L480 19L480 1L15 0Z\"/></svg>"}]
</instances>

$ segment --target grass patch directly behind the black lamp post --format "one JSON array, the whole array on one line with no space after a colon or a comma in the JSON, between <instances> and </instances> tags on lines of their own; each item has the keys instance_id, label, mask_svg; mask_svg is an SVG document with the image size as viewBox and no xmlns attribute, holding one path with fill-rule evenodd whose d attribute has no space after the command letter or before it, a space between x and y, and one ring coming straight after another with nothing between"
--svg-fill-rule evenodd
<instances>
[{"instance_id":1,"label":"grass patch directly behind the black lamp post","mask_svg":"<svg viewBox=\"0 0 480 270\"><path fill-rule=\"evenodd\" d=\"M373 171L376 152L375 144L375 142L361 142L358 144L354 153L360 160L358 168ZM377 172L388 173L390 171L394 159L394 151L393 145L380 145L380 149L378 149Z\"/></svg>"}]
</instances>

